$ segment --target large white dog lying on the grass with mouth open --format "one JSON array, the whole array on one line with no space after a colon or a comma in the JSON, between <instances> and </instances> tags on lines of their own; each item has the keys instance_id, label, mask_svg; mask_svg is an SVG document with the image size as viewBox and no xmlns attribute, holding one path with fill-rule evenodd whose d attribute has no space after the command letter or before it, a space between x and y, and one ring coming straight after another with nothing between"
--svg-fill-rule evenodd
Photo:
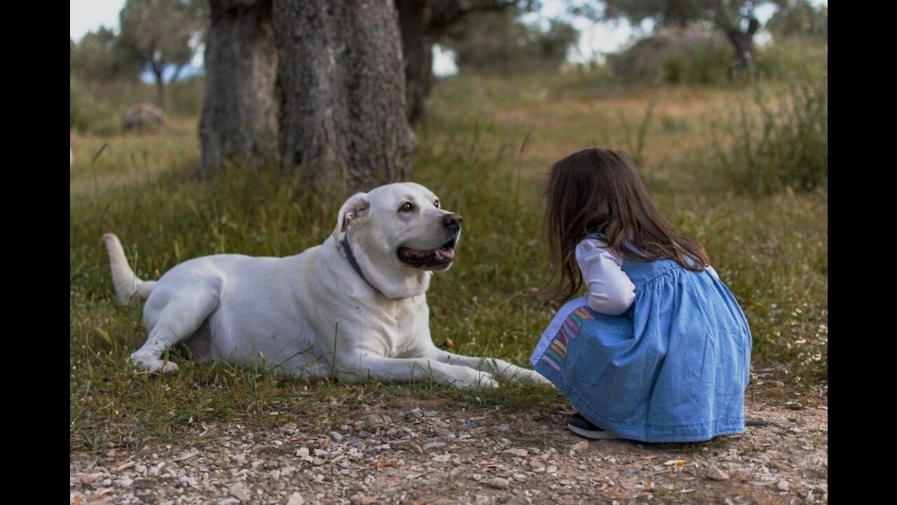
<instances>
[{"instance_id":1,"label":"large white dog lying on the grass with mouth open","mask_svg":"<svg viewBox=\"0 0 897 505\"><path fill-rule=\"evenodd\" d=\"M412 182L357 193L332 238L286 258L217 254L185 261L158 281L135 277L115 235L104 235L120 303L146 299L149 338L131 359L152 372L183 343L199 359L274 368L309 379L374 379L495 386L495 377L549 384L501 359L433 345L426 290L447 270L461 216Z\"/></svg>"}]
</instances>

